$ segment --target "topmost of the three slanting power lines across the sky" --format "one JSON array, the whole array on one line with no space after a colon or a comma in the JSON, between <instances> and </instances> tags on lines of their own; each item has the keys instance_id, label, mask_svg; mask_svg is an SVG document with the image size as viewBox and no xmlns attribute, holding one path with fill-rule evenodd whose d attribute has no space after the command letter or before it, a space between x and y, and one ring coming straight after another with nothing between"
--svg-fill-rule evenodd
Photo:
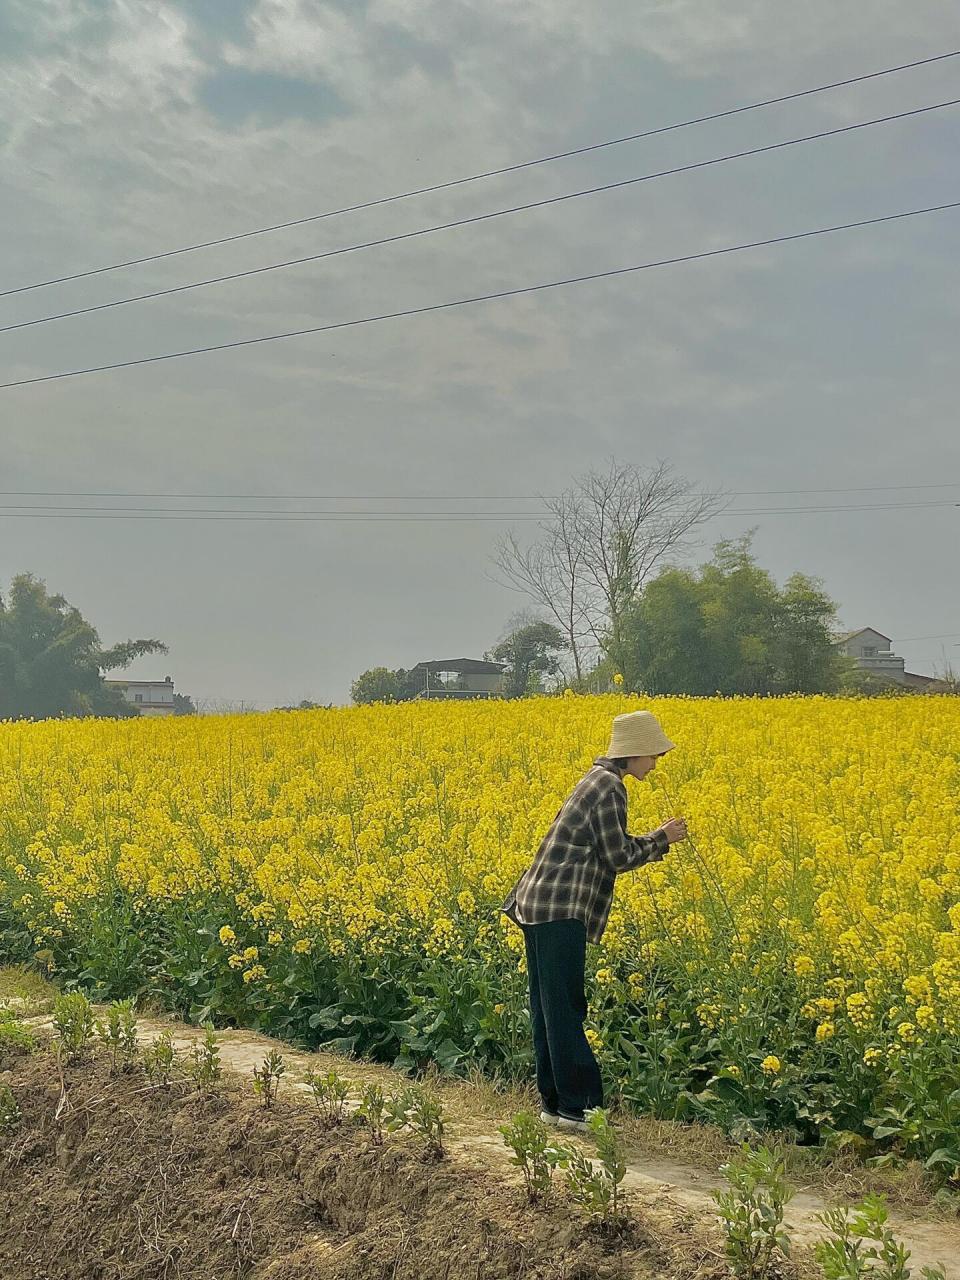
<instances>
[{"instance_id":1,"label":"topmost of the three slanting power lines across the sky","mask_svg":"<svg viewBox=\"0 0 960 1280\"><path fill-rule=\"evenodd\" d=\"M662 124L653 129L644 129L639 133L627 133L622 137L608 138L603 142L593 142L582 147L572 147L568 151L556 151L552 155L540 156L536 160L524 160L520 164L503 165L499 169L486 169L483 173L470 174L466 178L453 178L449 182L438 182L429 187L416 187L393 196L381 196L376 200L366 200L355 205L344 205L340 209L329 209L321 214L310 214L306 218L294 218L283 223L273 223L269 227L256 227L252 230L238 232L234 236L221 236L216 239L200 241L196 244L184 244L180 248L165 250L156 253L145 253L141 257L131 257L122 262L110 262L106 266L92 268L87 271L74 271L70 275L58 275L49 280L36 280L32 284L20 284L13 289L0 291L0 297L9 297L13 293L27 293L32 289L45 289L52 284L65 284L69 280L82 280L91 275L102 275L106 271L119 271L128 266L140 266L143 262L156 262L160 259L175 257L180 253L193 253L197 250L214 248L218 244L230 244L236 241L250 239L253 236L266 236L271 232L285 230L291 227L303 227L307 223L321 221L326 218L338 218L342 214L356 214L364 209L376 209L380 205L396 204L401 200L411 200L415 196L426 196L435 191L449 191L452 187L462 187L470 182L480 182L485 178L497 178L508 173L518 173L522 169L532 169L535 165L550 164L554 160L567 160L572 156L588 155L591 151L603 151L608 147L622 146L625 142L639 142L643 138L653 138L660 133L672 133L677 129L687 129L695 124L708 124L712 120L723 120L732 115L742 115L746 111L758 111L762 108L776 106L781 102L792 102L801 97L810 97L814 93L826 93L828 90L845 88L850 84L861 84L865 81L879 79L883 76L895 76L899 72L913 70L916 67L929 67L933 63L942 63L960 55L960 49L952 49L945 54L934 54L931 58L918 58L910 63L899 63L896 67L884 67L878 72L867 72L861 76L850 76L846 79L831 81L827 84L815 84L813 88L797 90L794 93L782 93L778 97L767 97L756 102L748 102L744 106L728 108L723 111L712 111L709 115L696 115L687 120L678 120L673 124Z\"/></svg>"}]
</instances>

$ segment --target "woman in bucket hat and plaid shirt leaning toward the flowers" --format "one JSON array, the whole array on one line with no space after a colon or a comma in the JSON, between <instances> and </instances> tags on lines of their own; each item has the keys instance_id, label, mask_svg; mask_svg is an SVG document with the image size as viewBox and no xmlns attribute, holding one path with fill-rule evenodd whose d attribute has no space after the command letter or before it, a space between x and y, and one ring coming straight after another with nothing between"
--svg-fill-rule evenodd
<instances>
[{"instance_id":1,"label":"woman in bucket hat and plaid shirt leaning toward the flowers","mask_svg":"<svg viewBox=\"0 0 960 1280\"><path fill-rule=\"evenodd\" d=\"M603 936L617 876L659 861L687 833L684 818L671 818L628 836L623 778L643 781L673 746L650 712L617 716L607 754L573 787L503 904L526 945L540 1117L562 1129L585 1130L585 1112L603 1106L584 1034L586 943Z\"/></svg>"}]
</instances>

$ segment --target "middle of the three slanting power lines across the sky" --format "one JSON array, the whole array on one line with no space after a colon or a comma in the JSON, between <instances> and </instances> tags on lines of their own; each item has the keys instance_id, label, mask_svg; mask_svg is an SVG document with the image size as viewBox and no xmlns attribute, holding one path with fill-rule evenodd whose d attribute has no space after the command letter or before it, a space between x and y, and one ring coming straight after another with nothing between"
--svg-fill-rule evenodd
<instances>
[{"instance_id":1,"label":"middle of the three slanting power lines across the sky","mask_svg":"<svg viewBox=\"0 0 960 1280\"><path fill-rule=\"evenodd\" d=\"M844 124L836 129L822 129L818 133L806 133L799 138L786 138L783 142L768 142L760 147L749 147L744 151L730 151L709 160L698 160L692 164L675 165L672 169L658 169L654 173L639 174L635 178L621 178L617 182L605 182L596 187L584 187L579 191L568 191L559 196L549 196L545 200L534 200L524 205L509 205L507 209L494 209L486 214L474 214L470 218L454 218L445 223L434 223L430 227L419 227L412 232L402 232L397 236L381 236L379 239L361 241L356 244L344 244L340 248L324 250L321 253L305 253L301 257L288 257L280 262L268 262L265 266L252 266L243 271L229 271L224 275L211 275L202 280L189 280L187 284L174 284L166 289L152 289L148 293L134 293L128 298L113 298L109 302L97 302L88 307L73 307L70 311L55 311L51 315L37 316L35 320L18 320L14 324L0 325L0 333L12 333L14 329L31 329L35 325L50 324L54 320L69 320L76 316L92 315L96 311L110 311L114 307L125 307L132 302L150 302L156 298L166 298L173 293L189 293L193 289L206 289L212 284L227 284L230 280L244 280L253 275L265 275L270 271L285 270L289 266L303 266L306 262L321 262L329 257L340 257L344 253L357 253L367 248L378 248L384 244L398 244L402 241L417 239L424 236L434 236L438 232L453 230L460 227L471 227L477 223L492 221L495 218L506 218L512 214L529 212L532 209L545 209L548 205L561 205L568 200L580 200L584 196L604 195L609 191L620 191L623 187L632 187L641 182L655 182L658 178L669 178L681 173L692 173L698 169L710 169L716 165L727 164L731 160L742 160L748 156L765 155L771 151L782 151L785 147L795 147L804 142L819 142L823 138L838 137L844 133L855 133L858 129L869 129L874 124L890 124L895 120L905 120L914 115L925 115L929 111L940 111L947 106L956 106L960 99L954 97L946 102L933 102L928 106L918 106L910 111L896 111L892 115L879 115L870 120L859 120L855 124Z\"/></svg>"}]
</instances>

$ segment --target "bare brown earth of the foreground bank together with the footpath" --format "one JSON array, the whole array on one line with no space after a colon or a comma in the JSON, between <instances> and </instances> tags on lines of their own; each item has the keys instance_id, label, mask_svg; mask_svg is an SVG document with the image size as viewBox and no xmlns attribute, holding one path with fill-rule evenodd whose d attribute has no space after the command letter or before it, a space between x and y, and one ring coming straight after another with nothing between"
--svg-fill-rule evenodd
<instances>
[{"instance_id":1,"label":"bare brown earth of the foreground bank together with the footpath","mask_svg":"<svg viewBox=\"0 0 960 1280\"><path fill-rule=\"evenodd\" d=\"M49 1033L32 995L27 1025ZM143 1042L164 1029L180 1051L202 1036L170 1019L138 1024ZM0 1060L0 1083L23 1110L17 1132L0 1137L0 1280L730 1276L710 1197L722 1181L718 1140L708 1130L696 1158L694 1137L658 1149L655 1121L627 1128L634 1226L604 1236L562 1193L545 1208L525 1203L497 1132L526 1101L516 1091L435 1082L451 1128L438 1162L413 1139L379 1148L355 1124L324 1129L302 1083L305 1070L335 1066L355 1084L389 1088L399 1080L389 1069L247 1030L219 1032L218 1042L228 1083L207 1101L184 1083L152 1089L140 1068L110 1078L101 1059L67 1068L63 1079L50 1052ZM251 1080L271 1048L287 1075L265 1111ZM823 1235L817 1215L869 1179L851 1169L826 1185L792 1180L794 1258L783 1280L812 1280L820 1275L810 1252ZM928 1192L919 1176L908 1179L892 1225L916 1280L936 1262L960 1280L960 1225L924 1207Z\"/></svg>"}]
</instances>

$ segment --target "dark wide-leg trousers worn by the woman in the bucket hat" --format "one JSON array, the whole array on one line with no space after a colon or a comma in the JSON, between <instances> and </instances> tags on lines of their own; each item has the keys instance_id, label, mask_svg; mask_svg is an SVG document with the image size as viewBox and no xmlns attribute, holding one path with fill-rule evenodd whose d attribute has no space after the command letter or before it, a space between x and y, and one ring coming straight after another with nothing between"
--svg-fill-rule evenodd
<instances>
[{"instance_id":1,"label":"dark wide-leg trousers worn by the woman in the bucket hat","mask_svg":"<svg viewBox=\"0 0 960 1280\"><path fill-rule=\"evenodd\" d=\"M580 920L522 928L536 1087L547 1111L580 1119L603 1106L600 1069L584 1034L586 928Z\"/></svg>"}]
</instances>

